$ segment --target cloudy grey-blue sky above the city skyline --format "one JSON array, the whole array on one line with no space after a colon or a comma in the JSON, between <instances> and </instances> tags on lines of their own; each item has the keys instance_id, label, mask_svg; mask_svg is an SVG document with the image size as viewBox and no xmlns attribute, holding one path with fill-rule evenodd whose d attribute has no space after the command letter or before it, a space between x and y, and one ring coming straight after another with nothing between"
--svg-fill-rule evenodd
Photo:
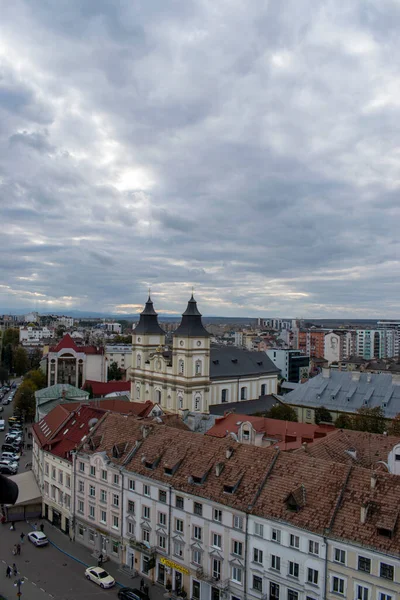
<instances>
[{"instance_id":1,"label":"cloudy grey-blue sky above the city skyline","mask_svg":"<svg viewBox=\"0 0 400 600\"><path fill-rule=\"evenodd\" d=\"M0 312L400 317L398 0L0 7Z\"/></svg>"}]
</instances>

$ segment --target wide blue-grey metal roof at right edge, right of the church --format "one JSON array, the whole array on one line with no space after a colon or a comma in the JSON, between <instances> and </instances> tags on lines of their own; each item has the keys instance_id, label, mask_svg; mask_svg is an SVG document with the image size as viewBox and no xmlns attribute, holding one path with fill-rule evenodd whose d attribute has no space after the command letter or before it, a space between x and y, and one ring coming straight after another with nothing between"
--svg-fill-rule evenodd
<instances>
[{"instance_id":1,"label":"wide blue-grey metal roof at right edge, right of the church","mask_svg":"<svg viewBox=\"0 0 400 600\"><path fill-rule=\"evenodd\" d=\"M328 410L356 412L382 408L389 419L400 413L400 381L389 373L335 371L321 373L284 396L287 404L325 406Z\"/></svg>"}]
</instances>

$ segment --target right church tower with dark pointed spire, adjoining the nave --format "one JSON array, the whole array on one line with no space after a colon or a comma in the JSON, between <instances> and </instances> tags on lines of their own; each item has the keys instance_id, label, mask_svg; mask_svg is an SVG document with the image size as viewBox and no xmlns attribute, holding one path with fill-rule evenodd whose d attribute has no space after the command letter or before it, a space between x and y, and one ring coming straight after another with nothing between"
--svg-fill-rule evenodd
<instances>
[{"instance_id":1,"label":"right church tower with dark pointed spire, adjoining the nave","mask_svg":"<svg viewBox=\"0 0 400 600\"><path fill-rule=\"evenodd\" d=\"M172 365L176 381L175 411L202 412L210 396L210 334L193 294L173 335Z\"/></svg>"}]
</instances>

